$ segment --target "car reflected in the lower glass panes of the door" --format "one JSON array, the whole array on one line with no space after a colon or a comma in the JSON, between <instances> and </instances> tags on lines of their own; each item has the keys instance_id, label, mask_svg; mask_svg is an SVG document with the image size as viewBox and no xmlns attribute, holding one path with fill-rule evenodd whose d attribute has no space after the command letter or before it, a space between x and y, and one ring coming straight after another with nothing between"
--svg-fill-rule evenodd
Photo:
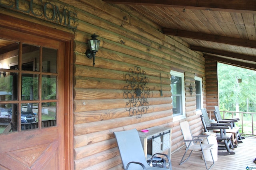
<instances>
[{"instance_id":1,"label":"car reflected in the lower glass panes of the door","mask_svg":"<svg viewBox=\"0 0 256 170\"><path fill-rule=\"evenodd\" d=\"M12 120L12 110L0 107L0 125L8 125ZM20 116L21 123L34 123L36 116L32 112L22 111Z\"/></svg>"}]
</instances>

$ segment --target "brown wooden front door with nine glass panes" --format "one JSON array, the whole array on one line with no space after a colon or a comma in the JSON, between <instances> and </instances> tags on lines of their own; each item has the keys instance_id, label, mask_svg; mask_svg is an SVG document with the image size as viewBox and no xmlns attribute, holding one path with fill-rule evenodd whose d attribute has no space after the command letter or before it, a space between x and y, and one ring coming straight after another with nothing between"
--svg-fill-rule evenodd
<instances>
[{"instance_id":1,"label":"brown wooden front door with nine glass panes","mask_svg":"<svg viewBox=\"0 0 256 170\"><path fill-rule=\"evenodd\" d=\"M65 45L0 30L0 169L64 169Z\"/></svg>"}]
</instances>

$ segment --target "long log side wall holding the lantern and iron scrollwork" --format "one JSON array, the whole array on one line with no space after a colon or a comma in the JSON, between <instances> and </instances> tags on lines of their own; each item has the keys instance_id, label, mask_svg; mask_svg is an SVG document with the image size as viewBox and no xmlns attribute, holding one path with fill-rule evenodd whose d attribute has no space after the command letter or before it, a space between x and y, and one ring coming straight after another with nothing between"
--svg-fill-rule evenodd
<instances>
[{"instance_id":1,"label":"long log side wall holding the lantern and iron scrollwork","mask_svg":"<svg viewBox=\"0 0 256 170\"><path fill-rule=\"evenodd\" d=\"M186 120L194 135L202 132L202 123L196 114L195 92L190 96L188 90L190 84L195 89L195 74L201 76L205 107L208 82L205 59L200 53L190 50L189 45L181 39L162 34L158 25L126 6L112 6L101 0L58 2L74 7L78 17L78 27L74 31L74 84L71 85L74 93L73 99L70 99L74 104L75 170L122 169L114 131L172 127L172 152L184 145L180 121L172 121L170 70L184 73ZM6 9L1 8L1 12L72 32ZM92 59L84 55L93 33L99 35L101 41L95 66L92 65ZM147 86L150 88L149 107L141 118L129 116L126 111L128 100L124 99L124 86L128 83L125 75L136 66L146 72ZM161 84L163 96L160 96Z\"/></svg>"}]
</instances>

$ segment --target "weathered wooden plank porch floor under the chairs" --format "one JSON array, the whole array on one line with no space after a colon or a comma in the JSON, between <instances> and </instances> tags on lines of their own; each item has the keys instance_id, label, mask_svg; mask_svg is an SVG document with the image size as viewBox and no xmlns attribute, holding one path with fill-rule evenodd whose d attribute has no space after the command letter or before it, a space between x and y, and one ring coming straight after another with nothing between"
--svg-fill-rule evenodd
<instances>
[{"instance_id":1,"label":"weathered wooden plank porch floor under the chairs","mask_svg":"<svg viewBox=\"0 0 256 170\"><path fill-rule=\"evenodd\" d=\"M246 137L242 140L243 143L238 144L238 147L233 151L236 152L234 155L220 156L215 162L211 170L249 170L255 169L256 164L253 162L256 158L256 138ZM180 160L185 152L185 147L174 152L171 155L172 169L173 170L205 170L204 160L202 160L202 152L195 151L191 154L190 158L179 165ZM208 167L212 162L207 162ZM252 168L250 168L252 167Z\"/></svg>"}]
</instances>

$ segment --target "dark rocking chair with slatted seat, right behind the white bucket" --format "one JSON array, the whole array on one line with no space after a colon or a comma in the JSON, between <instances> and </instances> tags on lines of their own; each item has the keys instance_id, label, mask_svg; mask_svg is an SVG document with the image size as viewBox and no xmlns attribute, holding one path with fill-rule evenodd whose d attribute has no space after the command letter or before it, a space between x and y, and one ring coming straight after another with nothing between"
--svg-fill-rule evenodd
<instances>
[{"instance_id":1,"label":"dark rocking chair with slatted seat, right behind the white bucket","mask_svg":"<svg viewBox=\"0 0 256 170\"><path fill-rule=\"evenodd\" d=\"M210 123L208 114L206 112L206 109L201 109L202 115L200 115L202 124L204 126L204 131L219 131L219 133L216 133L217 135L217 141L218 141L218 150L226 149L227 152L218 152L218 155L232 155L235 154L235 152L230 151L231 149L236 148L236 145L232 144L231 139L234 137L232 133L224 133L224 129L229 129L230 123ZM223 146L224 145L224 146Z\"/></svg>"}]
</instances>

